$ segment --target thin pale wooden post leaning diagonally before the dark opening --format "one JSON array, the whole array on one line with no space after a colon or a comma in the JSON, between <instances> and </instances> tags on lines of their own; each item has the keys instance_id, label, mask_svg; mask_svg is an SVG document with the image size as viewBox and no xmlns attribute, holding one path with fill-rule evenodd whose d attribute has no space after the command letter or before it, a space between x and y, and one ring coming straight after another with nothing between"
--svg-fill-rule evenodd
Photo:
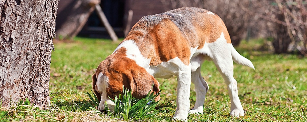
<instances>
[{"instance_id":1,"label":"thin pale wooden post leaning diagonally before the dark opening","mask_svg":"<svg viewBox=\"0 0 307 122\"><path fill-rule=\"evenodd\" d=\"M100 20L102 21L104 27L106 27L111 39L113 41L117 41L118 40L118 37L116 36L113 28L111 27L111 25L109 24L108 20L107 20L107 17L104 15L101 7L99 4L96 4L95 5L95 9L96 9L96 12L98 13L98 16L100 18Z\"/></svg>"}]
</instances>

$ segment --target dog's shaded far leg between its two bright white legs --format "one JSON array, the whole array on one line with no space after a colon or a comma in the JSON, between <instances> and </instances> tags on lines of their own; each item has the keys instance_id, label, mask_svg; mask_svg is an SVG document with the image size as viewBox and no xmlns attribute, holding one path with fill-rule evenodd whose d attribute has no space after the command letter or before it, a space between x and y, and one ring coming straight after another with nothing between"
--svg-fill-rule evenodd
<instances>
[{"instance_id":1,"label":"dog's shaded far leg between its two bright white legs","mask_svg":"<svg viewBox=\"0 0 307 122\"><path fill-rule=\"evenodd\" d=\"M192 72L191 81L195 84L196 92L196 103L194 108L189 111L189 113L203 113L204 111L204 101L208 91L208 84L200 74L201 66L199 66L196 71Z\"/></svg>"}]
</instances>

